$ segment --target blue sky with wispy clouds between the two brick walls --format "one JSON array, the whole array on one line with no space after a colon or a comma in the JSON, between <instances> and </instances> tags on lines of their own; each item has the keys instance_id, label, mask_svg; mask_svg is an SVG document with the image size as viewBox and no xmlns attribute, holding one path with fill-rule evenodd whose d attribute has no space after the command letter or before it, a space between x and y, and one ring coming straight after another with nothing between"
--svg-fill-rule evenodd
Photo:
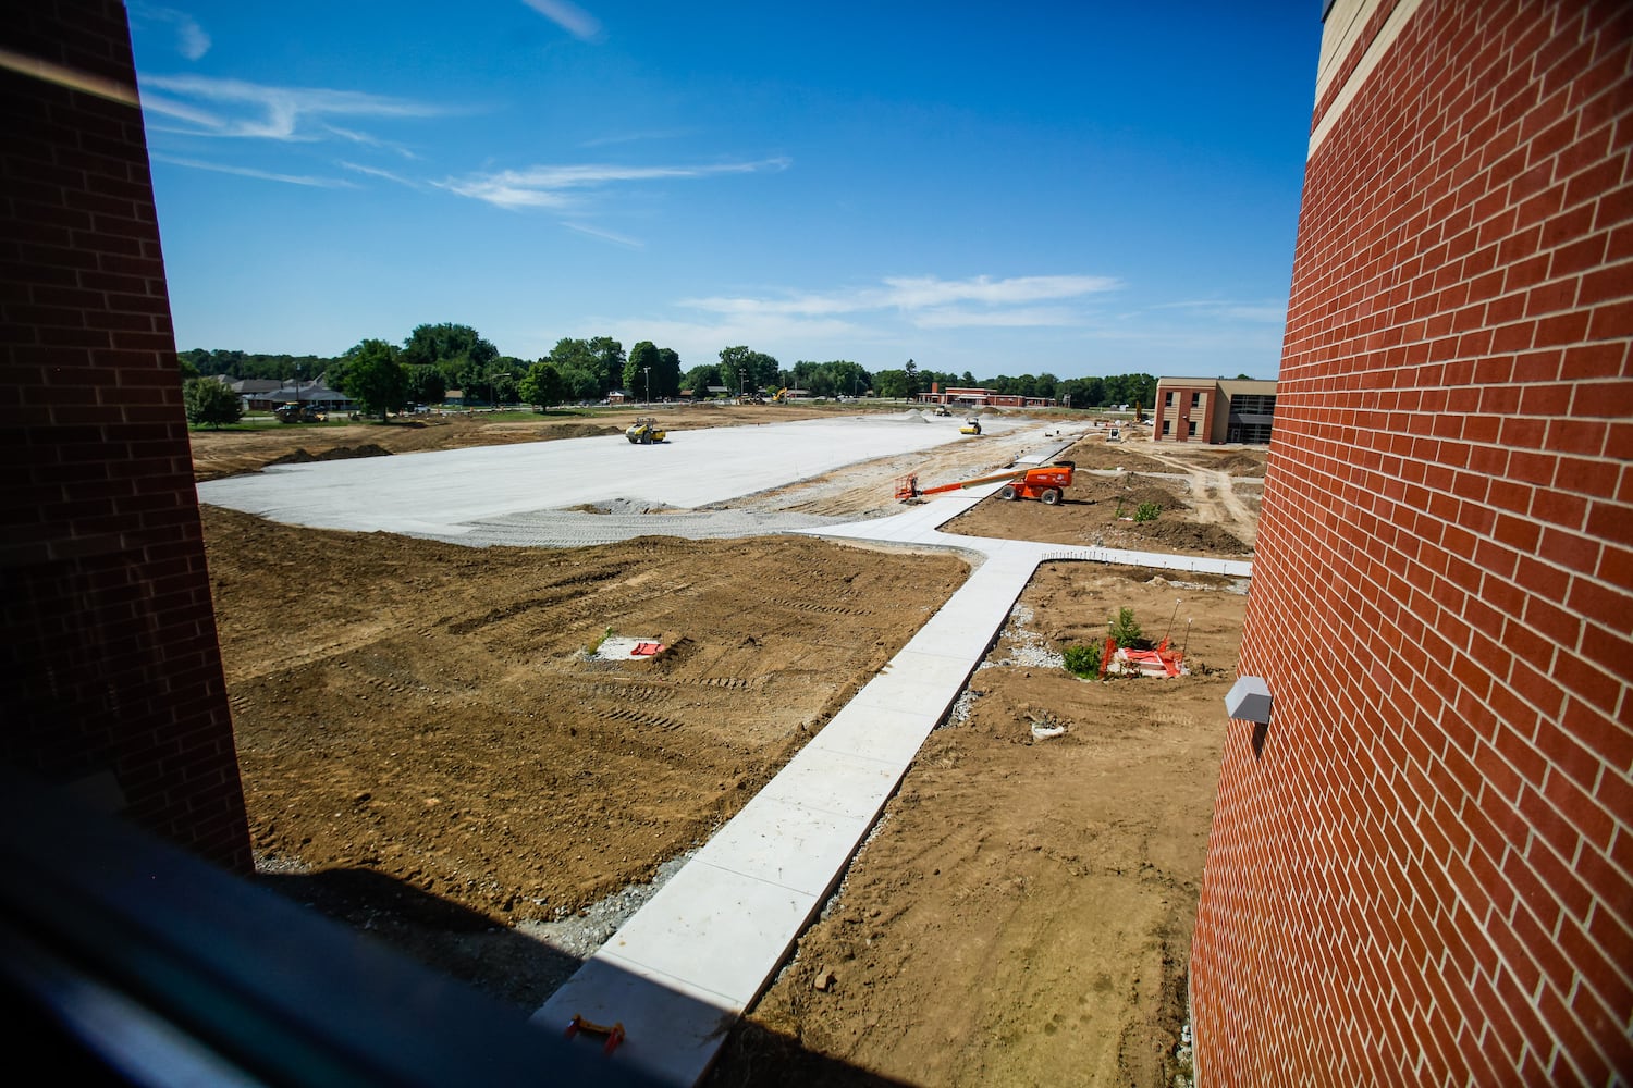
<instances>
[{"instance_id":1,"label":"blue sky with wispy clouds between the two brick walls","mask_svg":"<svg viewBox=\"0 0 1633 1088\"><path fill-rule=\"evenodd\" d=\"M1275 375L1315 3L127 7L181 349Z\"/></svg>"}]
</instances>

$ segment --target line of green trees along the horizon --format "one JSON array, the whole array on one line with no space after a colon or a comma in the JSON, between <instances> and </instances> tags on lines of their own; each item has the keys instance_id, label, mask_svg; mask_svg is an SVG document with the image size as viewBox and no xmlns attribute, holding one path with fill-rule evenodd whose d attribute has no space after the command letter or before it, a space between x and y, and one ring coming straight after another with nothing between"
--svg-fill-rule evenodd
<instances>
[{"instance_id":1,"label":"line of green trees along the horizon","mask_svg":"<svg viewBox=\"0 0 1633 1088\"><path fill-rule=\"evenodd\" d=\"M180 352L178 362L183 377L219 374L279 382L323 377L331 388L380 418L405 405L443 403L449 390L461 390L467 405L524 403L537 408L596 401L614 390L627 390L640 400L673 400L683 391L702 400L710 390L736 396L768 388L794 388L828 398L869 393L910 398L932 388L981 387L1006 395L1060 400L1073 408L1150 405L1156 396L1156 378L1148 374L1061 380L1045 372L977 378L968 370L921 369L911 359L900 369L875 372L848 359L799 360L784 367L776 357L743 344L723 347L714 362L683 370L679 354L670 347L640 341L625 352L624 344L611 336L563 338L547 356L527 362L500 354L477 329L456 323L420 325L402 346L364 339L335 357L191 349ZM194 400L207 396L198 393Z\"/></svg>"}]
</instances>

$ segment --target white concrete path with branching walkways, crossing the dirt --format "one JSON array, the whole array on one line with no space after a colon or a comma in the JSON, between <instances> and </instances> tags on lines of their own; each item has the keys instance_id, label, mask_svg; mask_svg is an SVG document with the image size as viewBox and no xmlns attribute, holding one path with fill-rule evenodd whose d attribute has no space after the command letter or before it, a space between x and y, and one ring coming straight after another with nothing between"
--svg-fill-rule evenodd
<instances>
[{"instance_id":1,"label":"white concrete path with branching walkways, crossing the dirt","mask_svg":"<svg viewBox=\"0 0 1633 1088\"><path fill-rule=\"evenodd\" d=\"M1047 453L1052 457L1053 453ZM1042 458L1040 458L1042 460ZM1246 577L1251 564L1110 548L952 537L937 530L1001 484L812 535L952 546L968 581L554 997L534 1023L622 1023L609 1059L692 1085L839 882L1039 563L1092 559Z\"/></svg>"}]
</instances>

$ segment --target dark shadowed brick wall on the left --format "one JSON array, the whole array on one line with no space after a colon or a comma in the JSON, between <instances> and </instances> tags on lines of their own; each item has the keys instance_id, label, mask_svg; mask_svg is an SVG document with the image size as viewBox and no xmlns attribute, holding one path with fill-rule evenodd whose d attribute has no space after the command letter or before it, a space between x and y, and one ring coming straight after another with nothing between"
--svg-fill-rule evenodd
<instances>
[{"instance_id":1,"label":"dark shadowed brick wall on the left","mask_svg":"<svg viewBox=\"0 0 1633 1088\"><path fill-rule=\"evenodd\" d=\"M15 5L0 46L39 72L0 69L0 759L243 869L124 7Z\"/></svg>"}]
</instances>

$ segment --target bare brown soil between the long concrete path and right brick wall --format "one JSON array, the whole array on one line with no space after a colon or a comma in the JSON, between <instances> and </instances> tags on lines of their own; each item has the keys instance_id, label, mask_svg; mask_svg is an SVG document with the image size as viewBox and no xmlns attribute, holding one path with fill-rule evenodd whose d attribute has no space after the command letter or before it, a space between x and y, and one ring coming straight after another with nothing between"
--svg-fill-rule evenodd
<instances>
[{"instance_id":1,"label":"bare brown soil between the long concrete path and right brick wall","mask_svg":"<svg viewBox=\"0 0 1633 1088\"><path fill-rule=\"evenodd\" d=\"M1026 654L1119 607L1161 636L1176 600L1189 677ZM1042 568L712 1083L1172 1083L1243 604L1210 576Z\"/></svg>"}]
</instances>

